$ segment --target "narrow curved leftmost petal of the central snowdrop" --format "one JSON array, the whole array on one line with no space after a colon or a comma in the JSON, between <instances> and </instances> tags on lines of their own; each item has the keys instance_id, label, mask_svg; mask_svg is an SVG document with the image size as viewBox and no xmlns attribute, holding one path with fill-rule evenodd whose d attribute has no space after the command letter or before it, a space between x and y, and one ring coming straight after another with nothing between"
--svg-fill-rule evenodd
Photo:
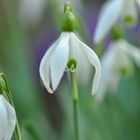
<instances>
[{"instance_id":1,"label":"narrow curved leftmost petal of the central snowdrop","mask_svg":"<svg viewBox=\"0 0 140 140\"><path fill-rule=\"evenodd\" d=\"M39 68L40 77L49 93L53 93L53 90L51 89L51 86L50 86L51 85L50 59L51 59L52 53L57 47L59 40L60 38L47 50L46 54L43 56L41 60L40 68Z\"/></svg>"}]
</instances>

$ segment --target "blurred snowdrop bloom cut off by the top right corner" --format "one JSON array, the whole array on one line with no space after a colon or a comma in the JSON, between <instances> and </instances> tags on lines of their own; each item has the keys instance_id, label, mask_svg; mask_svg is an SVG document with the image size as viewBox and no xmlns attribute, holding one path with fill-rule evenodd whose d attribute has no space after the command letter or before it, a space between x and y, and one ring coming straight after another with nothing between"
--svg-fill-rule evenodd
<instances>
[{"instance_id":1,"label":"blurred snowdrop bloom cut off by the top right corner","mask_svg":"<svg viewBox=\"0 0 140 140\"><path fill-rule=\"evenodd\" d=\"M138 19L137 4L140 9L139 0L108 0L99 15L94 42L102 41L119 19L127 25L135 24Z\"/></svg>"}]
</instances>

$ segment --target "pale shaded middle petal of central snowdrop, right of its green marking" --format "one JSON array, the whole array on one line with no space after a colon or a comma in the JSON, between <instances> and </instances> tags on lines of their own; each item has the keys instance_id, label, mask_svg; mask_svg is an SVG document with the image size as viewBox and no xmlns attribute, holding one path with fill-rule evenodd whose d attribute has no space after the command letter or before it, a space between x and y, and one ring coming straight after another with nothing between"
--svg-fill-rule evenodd
<instances>
[{"instance_id":1,"label":"pale shaded middle petal of central snowdrop, right of its green marking","mask_svg":"<svg viewBox=\"0 0 140 140\"><path fill-rule=\"evenodd\" d=\"M77 62L76 77L81 84L86 84L91 77L91 64L81 48L81 43L77 41L74 33L70 33L70 58ZM82 75L82 76L81 76Z\"/></svg>"}]
</instances>

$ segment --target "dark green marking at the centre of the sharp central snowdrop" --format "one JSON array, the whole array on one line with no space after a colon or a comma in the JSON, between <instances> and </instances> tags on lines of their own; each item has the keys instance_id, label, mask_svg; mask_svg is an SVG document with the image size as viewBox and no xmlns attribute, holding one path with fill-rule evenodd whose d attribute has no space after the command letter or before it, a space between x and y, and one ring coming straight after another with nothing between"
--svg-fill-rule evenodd
<instances>
[{"instance_id":1,"label":"dark green marking at the centre of the sharp central snowdrop","mask_svg":"<svg viewBox=\"0 0 140 140\"><path fill-rule=\"evenodd\" d=\"M66 70L70 72L75 72L77 67L77 62L75 59L70 59L67 63Z\"/></svg>"}]
</instances>

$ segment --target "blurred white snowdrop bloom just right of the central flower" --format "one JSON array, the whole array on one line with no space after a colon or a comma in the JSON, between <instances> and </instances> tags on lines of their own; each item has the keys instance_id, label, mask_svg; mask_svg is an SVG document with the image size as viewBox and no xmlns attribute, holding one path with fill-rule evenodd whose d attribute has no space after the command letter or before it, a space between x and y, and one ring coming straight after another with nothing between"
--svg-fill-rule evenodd
<instances>
[{"instance_id":1,"label":"blurred white snowdrop bloom just right of the central flower","mask_svg":"<svg viewBox=\"0 0 140 140\"><path fill-rule=\"evenodd\" d=\"M115 92L123 75L131 75L133 62L140 66L140 49L120 39L109 46L101 59L101 82L97 101L102 101L107 92Z\"/></svg>"}]
</instances>

